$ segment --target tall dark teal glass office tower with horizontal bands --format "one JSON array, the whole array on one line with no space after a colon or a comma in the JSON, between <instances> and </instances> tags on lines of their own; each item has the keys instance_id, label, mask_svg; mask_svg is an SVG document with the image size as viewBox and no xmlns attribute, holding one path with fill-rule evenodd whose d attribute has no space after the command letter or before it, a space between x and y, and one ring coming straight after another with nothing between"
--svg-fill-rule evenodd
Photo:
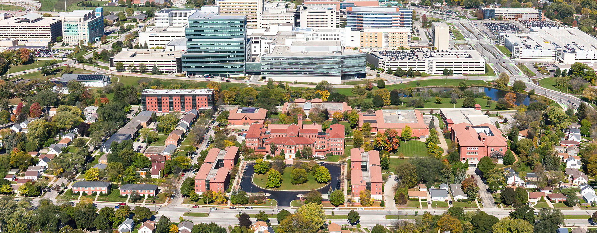
<instances>
[{"instance_id":1,"label":"tall dark teal glass office tower with horizontal bands","mask_svg":"<svg viewBox=\"0 0 597 233\"><path fill-rule=\"evenodd\" d=\"M185 30L186 54L182 68L189 76L244 74L251 57L247 17L197 11Z\"/></svg>"}]
</instances>

